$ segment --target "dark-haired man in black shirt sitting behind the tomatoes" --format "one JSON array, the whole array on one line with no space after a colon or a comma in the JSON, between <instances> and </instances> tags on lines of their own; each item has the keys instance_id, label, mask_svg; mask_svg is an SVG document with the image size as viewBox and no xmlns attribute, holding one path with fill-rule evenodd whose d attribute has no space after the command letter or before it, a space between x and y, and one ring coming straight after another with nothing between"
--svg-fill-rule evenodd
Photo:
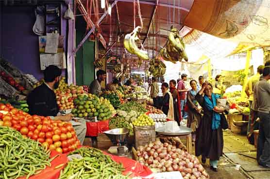
<instances>
[{"instance_id":1,"label":"dark-haired man in black shirt sitting behind the tomatoes","mask_svg":"<svg viewBox=\"0 0 270 179\"><path fill-rule=\"evenodd\" d=\"M59 112L56 103L56 96L54 89L57 89L60 82L61 70L55 66L50 65L44 71L45 82L39 87L35 88L27 98L29 105L29 114L39 116L50 116L54 120L70 121L72 114L57 116ZM81 125L73 126L81 144L84 143L86 134L85 120L80 120Z\"/></svg>"}]
</instances>

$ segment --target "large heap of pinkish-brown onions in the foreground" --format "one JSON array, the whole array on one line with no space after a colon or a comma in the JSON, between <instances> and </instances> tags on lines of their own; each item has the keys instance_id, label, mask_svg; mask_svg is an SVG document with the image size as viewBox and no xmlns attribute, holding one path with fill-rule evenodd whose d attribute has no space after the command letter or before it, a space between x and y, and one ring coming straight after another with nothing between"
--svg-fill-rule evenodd
<instances>
[{"instance_id":1,"label":"large heap of pinkish-brown onions in the foreground","mask_svg":"<svg viewBox=\"0 0 270 179\"><path fill-rule=\"evenodd\" d=\"M138 162L149 168L158 168L162 172L179 171L184 179L209 179L209 175L196 156L177 149L176 146L155 141L139 146L136 154Z\"/></svg>"}]
</instances>

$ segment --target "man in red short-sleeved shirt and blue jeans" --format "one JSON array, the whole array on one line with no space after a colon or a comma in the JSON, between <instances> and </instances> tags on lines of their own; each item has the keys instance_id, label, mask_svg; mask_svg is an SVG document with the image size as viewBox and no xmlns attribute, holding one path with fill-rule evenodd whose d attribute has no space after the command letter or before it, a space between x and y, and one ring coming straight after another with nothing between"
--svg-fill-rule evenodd
<instances>
[{"instance_id":1,"label":"man in red short-sleeved shirt and blue jeans","mask_svg":"<svg viewBox=\"0 0 270 179\"><path fill-rule=\"evenodd\" d=\"M180 119L186 119L187 115L186 112L184 111L184 106L185 106L185 101L186 101L186 91L188 91L185 87L185 81L187 78L186 74L181 75L182 80L178 82L177 89L180 95L180 102L181 102L181 116Z\"/></svg>"}]
</instances>

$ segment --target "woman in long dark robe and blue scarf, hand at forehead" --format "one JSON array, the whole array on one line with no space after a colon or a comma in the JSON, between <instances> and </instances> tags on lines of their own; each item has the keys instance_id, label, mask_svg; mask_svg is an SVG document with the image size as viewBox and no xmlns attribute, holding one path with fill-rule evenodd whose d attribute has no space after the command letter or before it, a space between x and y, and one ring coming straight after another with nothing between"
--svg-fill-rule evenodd
<instances>
[{"instance_id":1,"label":"woman in long dark robe and blue scarf, hand at forehead","mask_svg":"<svg viewBox=\"0 0 270 179\"><path fill-rule=\"evenodd\" d=\"M196 132L195 153L202 155L202 162L210 159L211 170L218 171L219 157L223 152L223 133L220 126L220 114L229 111L229 105L225 108L217 106L219 95L213 93L213 87L209 82L202 85L195 99L203 107L203 119Z\"/></svg>"}]
</instances>

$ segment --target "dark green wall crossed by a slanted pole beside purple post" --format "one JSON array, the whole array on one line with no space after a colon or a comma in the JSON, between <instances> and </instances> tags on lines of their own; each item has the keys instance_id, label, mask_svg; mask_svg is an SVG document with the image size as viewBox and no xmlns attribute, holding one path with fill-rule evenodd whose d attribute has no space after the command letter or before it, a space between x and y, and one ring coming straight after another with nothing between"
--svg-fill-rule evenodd
<instances>
[{"instance_id":1,"label":"dark green wall crossed by a slanted pole beside purple post","mask_svg":"<svg viewBox=\"0 0 270 179\"><path fill-rule=\"evenodd\" d=\"M86 23L82 16L76 17L76 46L83 40ZM86 40L75 57L76 85L87 85L94 80L95 42Z\"/></svg>"}]
</instances>

